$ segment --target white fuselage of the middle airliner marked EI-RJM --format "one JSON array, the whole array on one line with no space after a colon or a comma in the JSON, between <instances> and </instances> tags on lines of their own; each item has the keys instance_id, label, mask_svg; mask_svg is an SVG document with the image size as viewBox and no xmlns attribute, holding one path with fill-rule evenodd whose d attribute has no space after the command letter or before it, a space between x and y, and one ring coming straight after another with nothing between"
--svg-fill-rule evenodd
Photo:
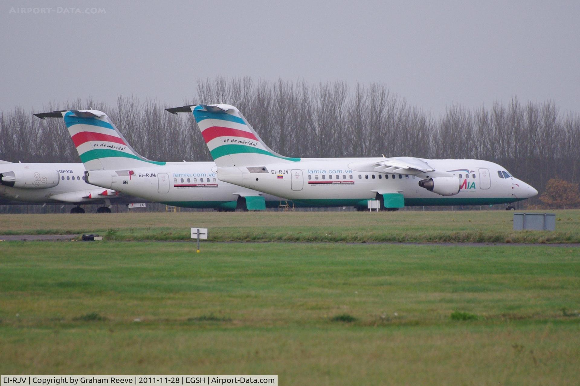
<instances>
[{"instance_id":1,"label":"white fuselage of the middle airliner marked EI-RJM","mask_svg":"<svg viewBox=\"0 0 580 386\"><path fill-rule=\"evenodd\" d=\"M238 196L260 194L267 207L280 197L220 181L213 162L151 165L131 170L92 170L90 183L168 205L190 208L235 209Z\"/></svg>"}]
</instances>

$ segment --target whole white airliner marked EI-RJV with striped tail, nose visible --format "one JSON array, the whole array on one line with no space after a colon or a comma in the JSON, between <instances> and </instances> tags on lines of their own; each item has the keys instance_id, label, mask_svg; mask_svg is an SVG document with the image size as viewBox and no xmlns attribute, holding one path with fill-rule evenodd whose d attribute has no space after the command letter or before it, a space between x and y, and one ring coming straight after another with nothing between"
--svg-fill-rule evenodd
<instances>
[{"instance_id":1,"label":"whole white airliner marked EI-RJV with striped tail, nose visible","mask_svg":"<svg viewBox=\"0 0 580 386\"><path fill-rule=\"evenodd\" d=\"M483 160L415 157L290 158L264 144L228 104L166 109L193 112L222 181L310 205L367 208L369 199L405 205L513 203L538 192L501 165Z\"/></svg>"}]
</instances>

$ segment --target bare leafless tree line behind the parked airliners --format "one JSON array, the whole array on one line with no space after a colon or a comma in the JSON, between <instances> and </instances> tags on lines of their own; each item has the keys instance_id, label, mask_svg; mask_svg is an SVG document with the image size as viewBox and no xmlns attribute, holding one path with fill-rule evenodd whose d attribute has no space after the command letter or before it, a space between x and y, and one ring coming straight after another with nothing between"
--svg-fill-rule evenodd
<instances>
[{"instance_id":1,"label":"bare leafless tree line behind the parked airliners","mask_svg":"<svg viewBox=\"0 0 580 386\"><path fill-rule=\"evenodd\" d=\"M285 156L478 158L503 165L540 192L556 175L580 182L580 116L560 113L550 101L514 98L473 110L454 105L433 117L379 83L218 77L198 81L193 99L182 102L237 106L264 142ZM211 160L193 116L164 111L179 104L119 96L115 106L76 99L46 111L102 110L151 160ZM0 113L0 159L78 162L64 122L41 121L33 112L39 111Z\"/></svg>"}]
</instances>

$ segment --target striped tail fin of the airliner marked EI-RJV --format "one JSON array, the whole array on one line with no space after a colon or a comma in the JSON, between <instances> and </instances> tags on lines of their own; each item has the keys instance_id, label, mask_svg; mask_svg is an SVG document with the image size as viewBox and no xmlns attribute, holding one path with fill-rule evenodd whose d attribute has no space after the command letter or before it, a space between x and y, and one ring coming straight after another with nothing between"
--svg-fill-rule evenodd
<instances>
[{"instance_id":1,"label":"striped tail fin of the airliner marked EI-RJV","mask_svg":"<svg viewBox=\"0 0 580 386\"><path fill-rule=\"evenodd\" d=\"M229 104L198 104L166 109L172 114L192 112L218 167L292 163L300 158L281 156L254 131L240 110Z\"/></svg>"}]
</instances>

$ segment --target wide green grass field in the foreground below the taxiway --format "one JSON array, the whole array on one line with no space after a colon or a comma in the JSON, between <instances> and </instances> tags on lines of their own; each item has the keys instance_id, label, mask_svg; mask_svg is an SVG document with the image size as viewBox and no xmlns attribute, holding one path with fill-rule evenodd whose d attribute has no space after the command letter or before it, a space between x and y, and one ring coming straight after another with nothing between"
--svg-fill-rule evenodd
<instances>
[{"instance_id":1,"label":"wide green grass field in the foreground below the taxiway","mask_svg":"<svg viewBox=\"0 0 580 386\"><path fill-rule=\"evenodd\" d=\"M580 248L204 243L197 255L193 243L3 242L0 266L2 374L580 376Z\"/></svg>"}]
</instances>

